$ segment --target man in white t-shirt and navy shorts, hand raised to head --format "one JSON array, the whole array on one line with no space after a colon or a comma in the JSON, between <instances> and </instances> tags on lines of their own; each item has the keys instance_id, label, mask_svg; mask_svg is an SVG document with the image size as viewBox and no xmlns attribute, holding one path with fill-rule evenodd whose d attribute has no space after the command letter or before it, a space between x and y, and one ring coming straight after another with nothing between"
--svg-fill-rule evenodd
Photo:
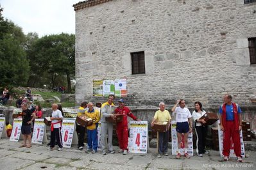
<instances>
[{"instance_id":1,"label":"man in white t-shirt and navy shorts, hand raised to head","mask_svg":"<svg viewBox=\"0 0 256 170\"><path fill-rule=\"evenodd\" d=\"M187 154L187 138L189 136L189 133L192 132L191 112L189 111L189 109L187 109L187 107L185 107L185 100L183 99L177 100L175 106L173 106L171 111L176 114L176 122L177 122L176 132L178 137L178 154L176 158L180 158L182 134L184 134L184 144L185 144L184 156L186 158L190 158L189 154Z\"/></svg>"}]
</instances>

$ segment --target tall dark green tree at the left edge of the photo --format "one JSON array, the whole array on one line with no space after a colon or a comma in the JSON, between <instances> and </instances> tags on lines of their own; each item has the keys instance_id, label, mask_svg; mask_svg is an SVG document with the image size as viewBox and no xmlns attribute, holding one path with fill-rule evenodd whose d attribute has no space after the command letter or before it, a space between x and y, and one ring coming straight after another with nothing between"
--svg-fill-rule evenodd
<instances>
[{"instance_id":1,"label":"tall dark green tree at the left edge of the photo","mask_svg":"<svg viewBox=\"0 0 256 170\"><path fill-rule=\"evenodd\" d=\"M0 86L22 86L28 81L30 66L22 47L21 27L1 15L0 7Z\"/></svg>"}]
</instances>

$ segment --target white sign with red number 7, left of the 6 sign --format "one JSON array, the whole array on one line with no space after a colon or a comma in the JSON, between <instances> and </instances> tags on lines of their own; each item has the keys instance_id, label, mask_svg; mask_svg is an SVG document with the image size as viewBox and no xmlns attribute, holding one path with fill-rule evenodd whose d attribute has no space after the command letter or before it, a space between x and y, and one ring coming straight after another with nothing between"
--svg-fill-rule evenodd
<instances>
[{"instance_id":1,"label":"white sign with red number 7, left of the 6 sign","mask_svg":"<svg viewBox=\"0 0 256 170\"><path fill-rule=\"evenodd\" d=\"M42 144L44 139L44 119L35 119L32 143Z\"/></svg>"}]
</instances>

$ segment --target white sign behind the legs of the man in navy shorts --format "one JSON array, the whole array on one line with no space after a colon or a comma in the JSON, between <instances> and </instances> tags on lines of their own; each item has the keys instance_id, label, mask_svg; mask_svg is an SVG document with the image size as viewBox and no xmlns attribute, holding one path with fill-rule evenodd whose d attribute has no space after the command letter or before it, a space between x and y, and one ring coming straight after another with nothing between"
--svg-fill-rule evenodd
<instances>
[{"instance_id":1,"label":"white sign behind the legs of the man in navy shorts","mask_svg":"<svg viewBox=\"0 0 256 170\"><path fill-rule=\"evenodd\" d=\"M190 156L193 156L193 138L192 138L193 134L192 132L189 133L189 137L187 139L187 153ZM184 137L182 134L182 142L181 142L181 150L180 150L180 154L184 155L185 153L185 144L184 144ZM171 151L173 155L177 155L178 154L178 138L177 138L177 132L176 132L176 121L171 121Z\"/></svg>"}]
</instances>

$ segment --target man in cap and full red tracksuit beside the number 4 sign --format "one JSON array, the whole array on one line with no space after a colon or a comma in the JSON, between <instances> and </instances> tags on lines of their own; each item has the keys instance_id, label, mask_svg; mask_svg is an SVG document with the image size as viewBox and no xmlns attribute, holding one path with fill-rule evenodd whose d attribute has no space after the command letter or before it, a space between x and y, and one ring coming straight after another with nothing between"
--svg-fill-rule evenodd
<instances>
[{"instance_id":1,"label":"man in cap and full red tracksuit beside the number 4 sign","mask_svg":"<svg viewBox=\"0 0 256 170\"><path fill-rule=\"evenodd\" d=\"M130 116L133 120L137 118L132 114L129 107L124 106L124 100L121 98L118 101L119 107L115 109L115 114L123 114L123 121L117 123L117 137L120 150L119 153L126 155L128 152L128 121L127 116Z\"/></svg>"}]
</instances>

